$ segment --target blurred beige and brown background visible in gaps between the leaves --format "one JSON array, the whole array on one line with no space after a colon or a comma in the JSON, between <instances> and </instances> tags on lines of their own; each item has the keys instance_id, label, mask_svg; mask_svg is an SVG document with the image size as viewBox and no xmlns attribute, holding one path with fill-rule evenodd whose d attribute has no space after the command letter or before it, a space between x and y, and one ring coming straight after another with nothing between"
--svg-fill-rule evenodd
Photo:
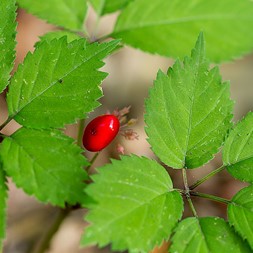
<instances>
[{"instance_id":1,"label":"blurred beige and brown background visible in gaps between the leaves","mask_svg":"<svg viewBox=\"0 0 253 253\"><path fill-rule=\"evenodd\" d=\"M109 33L112 30L116 17L117 14L107 15L100 20L97 26L96 15L90 9L86 20L89 33L97 37ZM56 27L37 19L22 9L18 10L17 19L18 33L15 69L23 61L27 52L34 50L34 43L39 40L39 36L56 29ZM95 30L96 34L94 34ZM102 84L104 92L104 97L100 101L102 106L96 109L90 115L90 118L98 114L106 113L107 110L113 111L116 108L121 109L126 106L131 106L129 118L136 118L138 120L137 124L133 126L133 129L138 133L139 139L127 141L121 136L117 137L106 150L102 151L94 167L109 162L110 157L119 158L119 154L116 151L117 144L124 146L125 154L134 153L156 159L146 141L143 120L144 101L148 96L149 87L153 85L153 80L156 78L158 69L167 71L168 67L172 64L172 59L146 54L129 47L122 48L106 60L106 66L103 70L110 73L110 75ZM220 69L223 80L230 80L231 82L231 97L236 102L234 107L234 121L237 121L253 108L253 55L237 59L232 63L222 64ZM7 118L5 95L2 94L0 97L1 122L4 122ZM4 133L9 135L18 127L18 124L12 121L4 129ZM66 133L76 138L77 126L68 126ZM86 155L88 159L92 157L91 153L87 153ZM203 168L189 173L190 184L211 170L218 168L220 165L221 156L217 154L215 159ZM169 172L173 177L175 187L183 187L181 172L172 170ZM8 200L8 227L4 253L32 252L31 249L34 244L50 226L58 210L49 205L42 205L33 197L27 196L22 190L17 189L11 181L9 181L8 186L10 190ZM232 179L228 173L223 171L201 185L198 190L230 199L243 186L243 183ZM193 199L193 201L199 216L217 215L226 218L226 206L224 204L214 203L204 199ZM98 249L97 247L79 248L80 236L84 226L87 225L83 221L84 214L84 210L76 210L69 215L53 238L51 248L48 252L110 252L109 247L104 249ZM191 215L191 213L186 204L184 216L188 215Z\"/></svg>"}]
</instances>

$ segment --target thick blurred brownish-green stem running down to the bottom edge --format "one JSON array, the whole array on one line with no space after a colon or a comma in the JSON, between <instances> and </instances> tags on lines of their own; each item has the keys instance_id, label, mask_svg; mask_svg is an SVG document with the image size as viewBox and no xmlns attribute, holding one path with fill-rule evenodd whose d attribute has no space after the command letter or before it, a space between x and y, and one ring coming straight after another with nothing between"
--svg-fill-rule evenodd
<instances>
[{"instance_id":1,"label":"thick blurred brownish-green stem running down to the bottom edge","mask_svg":"<svg viewBox=\"0 0 253 253\"><path fill-rule=\"evenodd\" d=\"M35 247L32 250L32 253L44 253L49 249L53 236L56 234L62 222L70 212L71 212L70 208L60 209L58 211L55 220L53 221L49 229L41 237L39 242L35 245Z\"/></svg>"}]
</instances>

